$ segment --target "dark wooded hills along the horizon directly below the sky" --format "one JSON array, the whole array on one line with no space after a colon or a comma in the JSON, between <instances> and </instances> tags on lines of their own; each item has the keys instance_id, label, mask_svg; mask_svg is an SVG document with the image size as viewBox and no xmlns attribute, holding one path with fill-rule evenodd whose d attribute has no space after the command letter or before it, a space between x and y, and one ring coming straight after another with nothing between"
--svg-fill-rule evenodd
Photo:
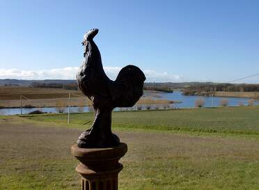
<instances>
[{"instance_id":1,"label":"dark wooded hills along the horizon directly below the sky","mask_svg":"<svg viewBox=\"0 0 259 190\"><path fill-rule=\"evenodd\" d=\"M77 90L76 80L18 80L0 79L0 86L25 86L36 88L64 88L67 90ZM157 90L173 92L175 89L185 89L185 95L200 95L209 91L225 92L259 92L259 84L223 84L212 82L181 82L181 83L145 83L144 90Z\"/></svg>"}]
</instances>

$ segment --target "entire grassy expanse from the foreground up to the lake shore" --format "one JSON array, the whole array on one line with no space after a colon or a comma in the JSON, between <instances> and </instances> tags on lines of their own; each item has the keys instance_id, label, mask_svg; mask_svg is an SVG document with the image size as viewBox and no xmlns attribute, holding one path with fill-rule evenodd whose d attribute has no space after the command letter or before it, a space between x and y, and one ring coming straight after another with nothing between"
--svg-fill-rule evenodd
<instances>
[{"instance_id":1,"label":"entire grassy expanse from the foreground up to the lake shore","mask_svg":"<svg viewBox=\"0 0 259 190\"><path fill-rule=\"evenodd\" d=\"M128 145L119 189L259 189L258 109L113 113ZM70 146L93 113L66 119L0 116L0 189L80 189Z\"/></svg>"}]
</instances>

